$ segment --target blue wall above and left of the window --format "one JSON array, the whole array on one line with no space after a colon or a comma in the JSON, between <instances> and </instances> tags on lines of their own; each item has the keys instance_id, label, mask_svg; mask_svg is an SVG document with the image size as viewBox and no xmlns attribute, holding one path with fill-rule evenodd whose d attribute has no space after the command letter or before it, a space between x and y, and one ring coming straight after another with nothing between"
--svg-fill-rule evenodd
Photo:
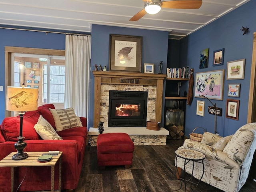
<instances>
[{"instance_id":1,"label":"blue wall above and left of the window","mask_svg":"<svg viewBox=\"0 0 256 192\"><path fill-rule=\"evenodd\" d=\"M65 50L65 35L44 32L0 29L0 123L5 115L5 46Z\"/></svg>"}]
</instances>

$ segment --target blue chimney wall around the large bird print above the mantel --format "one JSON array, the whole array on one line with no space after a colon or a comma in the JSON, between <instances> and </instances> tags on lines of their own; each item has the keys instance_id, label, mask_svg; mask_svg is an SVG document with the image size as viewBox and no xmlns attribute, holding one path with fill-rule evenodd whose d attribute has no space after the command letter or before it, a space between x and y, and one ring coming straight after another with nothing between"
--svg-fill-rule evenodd
<instances>
[{"instance_id":1,"label":"blue chimney wall around the large bird print above the mantel","mask_svg":"<svg viewBox=\"0 0 256 192\"><path fill-rule=\"evenodd\" d=\"M94 109L94 65L108 66L109 34L142 36L142 72L144 63L154 63L154 73L158 73L158 64L163 61L163 72L166 71L168 32L155 30L142 30L103 25L92 25L92 59L90 83L90 114L89 126L93 126ZM107 68L108 70L108 68ZM165 84L164 84L165 86ZM164 90L165 92L165 90ZM164 110L164 109L163 109ZM163 118L162 118L163 122Z\"/></svg>"}]
</instances>

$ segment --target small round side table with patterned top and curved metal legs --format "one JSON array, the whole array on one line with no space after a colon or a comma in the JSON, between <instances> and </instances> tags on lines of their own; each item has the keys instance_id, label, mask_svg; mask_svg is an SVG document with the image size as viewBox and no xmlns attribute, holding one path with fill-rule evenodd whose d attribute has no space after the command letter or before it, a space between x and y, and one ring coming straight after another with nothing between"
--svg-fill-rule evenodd
<instances>
[{"instance_id":1,"label":"small round side table with patterned top and curved metal legs","mask_svg":"<svg viewBox=\"0 0 256 192\"><path fill-rule=\"evenodd\" d=\"M200 151L196 151L196 150L192 150L192 149L177 149L175 151L175 153L176 153L175 165L176 165L176 168L177 168L177 173L179 175L179 178L180 178L180 173L178 172L178 167L177 167L177 157L180 157L180 158L184 159L183 178L180 178L180 188L177 189L177 190L180 190L181 187L182 187L181 180L184 180L185 192L186 192L186 183L187 182L190 182L191 190L193 190L192 189L192 184L196 184L196 188L197 188L199 182L202 180L203 175L204 175L204 162L203 162L203 160L205 159L205 155L202 154ZM188 180L186 180L185 179L185 168L186 168L186 164L188 164L188 162L190 162L190 161L193 162L192 174L191 174L191 177ZM194 177L193 173L194 173L195 162L203 164L203 173L202 173L202 176L201 176L200 180L198 181L198 183L192 182L192 178ZM194 189L195 191L196 191L196 188Z\"/></svg>"}]
</instances>

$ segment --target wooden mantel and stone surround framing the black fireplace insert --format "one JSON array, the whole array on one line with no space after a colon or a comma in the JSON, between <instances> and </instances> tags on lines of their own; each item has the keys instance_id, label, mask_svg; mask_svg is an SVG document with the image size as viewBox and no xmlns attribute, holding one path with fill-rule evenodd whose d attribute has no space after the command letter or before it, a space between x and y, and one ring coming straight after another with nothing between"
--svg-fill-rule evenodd
<instances>
[{"instance_id":1,"label":"wooden mantel and stone surround framing the black fireplace insert","mask_svg":"<svg viewBox=\"0 0 256 192\"><path fill-rule=\"evenodd\" d=\"M104 127L109 119L109 91L141 91L148 93L146 120L161 121L162 93L165 74L124 73L93 71L94 74L94 124Z\"/></svg>"}]
</instances>

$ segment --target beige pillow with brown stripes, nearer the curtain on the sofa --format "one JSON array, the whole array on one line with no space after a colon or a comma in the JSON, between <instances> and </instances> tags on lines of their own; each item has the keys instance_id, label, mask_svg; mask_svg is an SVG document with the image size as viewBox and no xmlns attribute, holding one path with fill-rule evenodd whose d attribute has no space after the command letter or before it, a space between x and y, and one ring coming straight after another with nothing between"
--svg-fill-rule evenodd
<instances>
[{"instance_id":1,"label":"beige pillow with brown stripes, nearer the curtain on the sofa","mask_svg":"<svg viewBox=\"0 0 256 192\"><path fill-rule=\"evenodd\" d=\"M73 127L82 127L82 122L78 116L76 116L73 108L66 109L50 109L54 118L56 131L62 131Z\"/></svg>"}]
</instances>

